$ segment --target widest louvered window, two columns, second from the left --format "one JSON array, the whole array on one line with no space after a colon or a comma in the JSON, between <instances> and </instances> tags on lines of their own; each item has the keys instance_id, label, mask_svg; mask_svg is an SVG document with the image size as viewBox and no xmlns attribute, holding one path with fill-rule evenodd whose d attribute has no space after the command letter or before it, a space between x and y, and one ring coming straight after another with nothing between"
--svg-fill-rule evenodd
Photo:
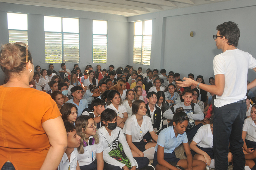
<instances>
[{"instance_id":1,"label":"widest louvered window, two columns, second from the left","mask_svg":"<svg viewBox=\"0 0 256 170\"><path fill-rule=\"evenodd\" d=\"M45 62L79 62L79 19L45 16Z\"/></svg>"}]
</instances>

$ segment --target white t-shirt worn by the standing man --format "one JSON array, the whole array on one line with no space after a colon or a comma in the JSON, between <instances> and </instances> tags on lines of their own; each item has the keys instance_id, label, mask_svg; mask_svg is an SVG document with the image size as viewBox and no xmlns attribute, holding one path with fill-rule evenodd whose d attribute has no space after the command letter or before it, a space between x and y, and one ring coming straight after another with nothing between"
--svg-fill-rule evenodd
<instances>
[{"instance_id":1,"label":"white t-shirt worn by the standing man","mask_svg":"<svg viewBox=\"0 0 256 170\"><path fill-rule=\"evenodd\" d=\"M248 68L255 68L256 60L248 52L239 49L226 50L213 60L214 75L225 75L225 87L221 96L216 96L214 105L221 107L246 99Z\"/></svg>"}]
</instances>

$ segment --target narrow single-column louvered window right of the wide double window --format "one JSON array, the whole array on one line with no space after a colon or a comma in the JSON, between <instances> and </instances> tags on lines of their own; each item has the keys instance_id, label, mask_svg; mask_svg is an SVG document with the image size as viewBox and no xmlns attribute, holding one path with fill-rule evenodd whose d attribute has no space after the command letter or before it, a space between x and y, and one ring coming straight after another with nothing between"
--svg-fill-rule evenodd
<instances>
[{"instance_id":1,"label":"narrow single-column louvered window right of the wide double window","mask_svg":"<svg viewBox=\"0 0 256 170\"><path fill-rule=\"evenodd\" d=\"M108 40L108 22L92 21L92 39L93 39L93 63L107 63L107 40Z\"/></svg>"}]
</instances>

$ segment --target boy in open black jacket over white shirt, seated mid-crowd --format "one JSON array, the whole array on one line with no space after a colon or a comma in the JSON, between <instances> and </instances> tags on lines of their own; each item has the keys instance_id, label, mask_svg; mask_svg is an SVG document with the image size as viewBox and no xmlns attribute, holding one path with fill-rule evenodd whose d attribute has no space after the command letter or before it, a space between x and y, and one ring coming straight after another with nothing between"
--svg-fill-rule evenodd
<instances>
[{"instance_id":1,"label":"boy in open black jacket over white shirt, seated mid-crowd","mask_svg":"<svg viewBox=\"0 0 256 170\"><path fill-rule=\"evenodd\" d=\"M154 131L156 133L158 131L160 132L163 125L163 118L162 118L161 108L157 105L156 92L155 91L148 92L147 100L148 100L148 103L146 104L146 108L147 108L146 115L149 118L151 118L151 123L153 124ZM147 139L151 139L151 138L149 137Z\"/></svg>"}]
</instances>

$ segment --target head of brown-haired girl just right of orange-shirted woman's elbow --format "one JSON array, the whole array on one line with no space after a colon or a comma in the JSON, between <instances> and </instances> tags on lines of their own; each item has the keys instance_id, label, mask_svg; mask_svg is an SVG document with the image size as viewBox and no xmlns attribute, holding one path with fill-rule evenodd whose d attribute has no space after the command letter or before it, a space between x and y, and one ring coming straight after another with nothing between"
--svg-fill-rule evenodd
<instances>
[{"instance_id":1,"label":"head of brown-haired girl just right of orange-shirted woman's elbow","mask_svg":"<svg viewBox=\"0 0 256 170\"><path fill-rule=\"evenodd\" d=\"M75 125L75 121L77 118L77 107L72 103L65 103L61 107L61 118L64 122L69 122Z\"/></svg>"}]
</instances>

